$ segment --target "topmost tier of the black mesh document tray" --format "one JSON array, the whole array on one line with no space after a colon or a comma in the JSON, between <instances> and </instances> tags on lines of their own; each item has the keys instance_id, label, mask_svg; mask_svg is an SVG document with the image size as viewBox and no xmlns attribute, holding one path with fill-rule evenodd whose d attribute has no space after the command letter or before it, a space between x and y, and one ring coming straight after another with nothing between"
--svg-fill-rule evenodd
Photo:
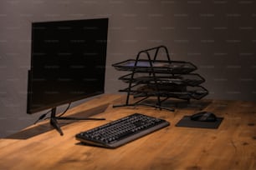
<instances>
[{"instance_id":1,"label":"topmost tier of the black mesh document tray","mask_svg":"<svg viewBox=\"0 0 256 170\"><path fill-rule=\"evenodd\" d=\"M172 74L185 74L197 69L191 62L166 61L166 60L133 60L118 62L112 65L116 70L134 72L160 72Z\"/></svg>"}]
</instances>

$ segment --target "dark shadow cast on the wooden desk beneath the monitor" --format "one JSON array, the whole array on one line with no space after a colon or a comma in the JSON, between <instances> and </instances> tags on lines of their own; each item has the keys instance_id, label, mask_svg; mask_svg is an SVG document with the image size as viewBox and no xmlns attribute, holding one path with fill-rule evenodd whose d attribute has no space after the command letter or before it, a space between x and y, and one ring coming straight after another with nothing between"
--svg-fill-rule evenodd
<instances>
[{"instance_id":1,"label":"dark shadow cast on the wooden desk beneath the monitor","mask_svg":"<svg viewBox=\"0 0 256 170\"><path fill-rule=\"evenodd\" d=\"M104 104L101 105L100 107L94 107L94 108L90 108L89 110L86 111L82 111L82 112L77 112L74 113L72 115L72 117L90 117L96 114L99 114L100 112L105 112L105 109L109 106L109 104ZM73 122L77 122L78 120L58 120L59 122L59 126L60 127L64 127L65 125L68 125L70 123ZM87 120L83 120L83 121L87 121ZM88 120L90 121L90 120ZM42 133L47 133L51 130L54 130L54 128L50 125L49 121L45 121L42 124L38 124L36 126L32 126L31 128L28 129L24 129L23 131L19 132L19 133L15 133L13 135L8 136L8 139L28 139L28 138L32 138L35 137L37 135L40 135Z\"/></svg>"}]
</instances>

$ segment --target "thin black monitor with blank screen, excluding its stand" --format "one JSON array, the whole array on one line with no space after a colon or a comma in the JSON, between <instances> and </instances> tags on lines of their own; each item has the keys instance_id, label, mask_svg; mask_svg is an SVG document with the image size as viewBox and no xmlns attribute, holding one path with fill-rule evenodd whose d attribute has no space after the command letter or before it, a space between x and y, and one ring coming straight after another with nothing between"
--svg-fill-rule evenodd
<instances>
[{"instance_id":1,"label":"thin black monitor with blank screen, excluding its stand","mask_svg":"<svg viewBox=\"0 0 256 170\"><path fill-rule=\"evenodd\" d=\"M32 23L29 114L104 93L108 18Z\"/></svg>"}]
</instances>

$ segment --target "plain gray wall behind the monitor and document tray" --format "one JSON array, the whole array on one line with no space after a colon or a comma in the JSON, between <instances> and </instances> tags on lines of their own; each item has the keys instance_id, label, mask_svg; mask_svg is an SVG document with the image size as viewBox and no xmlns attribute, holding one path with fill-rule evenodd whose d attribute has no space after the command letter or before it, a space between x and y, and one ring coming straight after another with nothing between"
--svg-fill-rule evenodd
<instances>
[{"instance_id":1,"label":"plain gray wall behind the monitor and document tray","mask_svg":"<svg viewBox=\"0 0 256 170\"><path fill-rule=\"evenodd\" d=\"M208 98L256 101L253 0L2 0L0 137L32 124L26 114L31 23L110 18L106 92L125 87L112 63L166 45L173 60L197 65Z\"/></svg>"}]
</instances>

